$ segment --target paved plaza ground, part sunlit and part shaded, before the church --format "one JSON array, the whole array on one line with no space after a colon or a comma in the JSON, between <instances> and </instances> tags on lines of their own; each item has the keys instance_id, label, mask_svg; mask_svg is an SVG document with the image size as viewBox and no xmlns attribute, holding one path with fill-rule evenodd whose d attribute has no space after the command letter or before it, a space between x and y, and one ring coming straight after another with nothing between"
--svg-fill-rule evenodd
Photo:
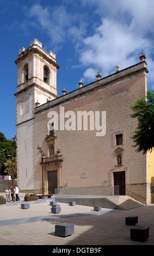
<instances>
[{"instance_id":1,"label":"paved plaza ground, part sunlit and part shaded, before the church","mask_svg":"<svg viewBox=\"0 0 154 256\"><path fill-rule=\"evenodd\" d=\"M22 203L22 202L20 202ZM60 214L52 214L49 202L0 207L0 245L154 245L154 205L132 210L102 209L58 203ZM130 240L131 226L125 225L126 216L138 216L138 224L150 227L146 242ZM55 236L55 224L75 224L75 234Z\"/></svg>"}]
</instances>

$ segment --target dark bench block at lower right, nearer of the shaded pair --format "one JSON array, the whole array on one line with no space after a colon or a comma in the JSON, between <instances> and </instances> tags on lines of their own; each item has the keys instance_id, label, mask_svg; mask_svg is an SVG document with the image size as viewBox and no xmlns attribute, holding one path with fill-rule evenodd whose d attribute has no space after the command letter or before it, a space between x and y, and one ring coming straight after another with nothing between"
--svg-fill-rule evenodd
<instances>
[{"instance_id":1,"label":"dark bench block at lower right, nearer of the shaded pair","mask_svg":"<svg viewBox=\"0 0 154 256\"><path fill-rule=\"evenodd\" d=\"M149 237L149 227L131 228L131 240L145 242Z\"/></svg>"}]
</instances>

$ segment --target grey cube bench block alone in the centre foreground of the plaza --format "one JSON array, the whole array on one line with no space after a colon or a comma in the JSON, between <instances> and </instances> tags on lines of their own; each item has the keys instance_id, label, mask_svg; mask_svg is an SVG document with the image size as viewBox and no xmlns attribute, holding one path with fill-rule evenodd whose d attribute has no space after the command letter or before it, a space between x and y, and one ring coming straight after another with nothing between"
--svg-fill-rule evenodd
<instances>
[{"instance_id":1,"label":"grey cube bench block alone in the centre foreground of the plaza","mask_svg":"<svg viewBox=\"0 0 154 256\"><path fill-rule=\"evenodd\" d=\"M68 236L74 234L74 224L61 223L55 225L56 236Z\"/></svg>"}]
</instances>

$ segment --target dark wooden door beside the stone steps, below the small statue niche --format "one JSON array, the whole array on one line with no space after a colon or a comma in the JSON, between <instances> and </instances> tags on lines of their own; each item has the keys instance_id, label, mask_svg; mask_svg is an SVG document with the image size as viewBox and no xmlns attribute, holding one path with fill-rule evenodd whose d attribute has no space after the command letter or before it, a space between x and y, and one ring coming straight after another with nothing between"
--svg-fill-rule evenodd
<instances>
[{"instance_id":1,"label":"dark wooden door beside the stone steps, below the small statue niche","mask_svg":"<svg viewBox=\"0 0 154 256\"><path fill-rule=\"evenodd\" d=\"M114 185L119 185L119 195L125 196L126 194L125 172L114 173Z\"/></svg>"}]
</instances>

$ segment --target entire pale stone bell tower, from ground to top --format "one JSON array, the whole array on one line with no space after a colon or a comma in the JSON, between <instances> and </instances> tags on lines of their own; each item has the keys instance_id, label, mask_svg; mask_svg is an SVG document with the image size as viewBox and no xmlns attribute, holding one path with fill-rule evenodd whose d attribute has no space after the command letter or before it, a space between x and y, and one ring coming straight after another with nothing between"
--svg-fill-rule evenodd
<instances>
[{"instance_id":1,"label":"entire pale stone bell tower, from ground to top","mask_svg":"<svg viewBox=\"0 0 154 256\"><path fill-rule=\"evenodd\" d=\"M17 92L15 96L18 186L20 190L33 191L34 109L58 97L57 69L59 65L56 54L52 51L45 51L42 48L42 43L37 39L30 42L27 50L24 47L19 50L15 63L17 64ZM32 179L27 180L28 176L31 176Z\"/></svg>"}]
</instances>

